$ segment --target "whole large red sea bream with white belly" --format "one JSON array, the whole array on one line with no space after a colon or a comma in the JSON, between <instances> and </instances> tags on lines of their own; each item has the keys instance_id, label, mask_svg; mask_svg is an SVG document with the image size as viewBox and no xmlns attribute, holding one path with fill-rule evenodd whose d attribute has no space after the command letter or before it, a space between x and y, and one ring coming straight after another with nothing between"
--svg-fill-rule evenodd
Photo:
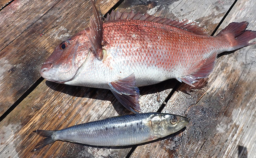
<instances>
[{"instance_id":1,"label":"whole large red sea bream with white belly","mask_svg":"<svg viewBox=\"0 0 256 158\"><path fill-rule=\"evenodd\" d=\"M105 88L125 108L140 111L139 88L176 78L193 86L213 71L217 54L250 46L256 31L230 23L209 36L190 20L114 12L102 21L92 2L91 27L58 45L42 65L56 83Z\"/></svg>"}]
</instances>

